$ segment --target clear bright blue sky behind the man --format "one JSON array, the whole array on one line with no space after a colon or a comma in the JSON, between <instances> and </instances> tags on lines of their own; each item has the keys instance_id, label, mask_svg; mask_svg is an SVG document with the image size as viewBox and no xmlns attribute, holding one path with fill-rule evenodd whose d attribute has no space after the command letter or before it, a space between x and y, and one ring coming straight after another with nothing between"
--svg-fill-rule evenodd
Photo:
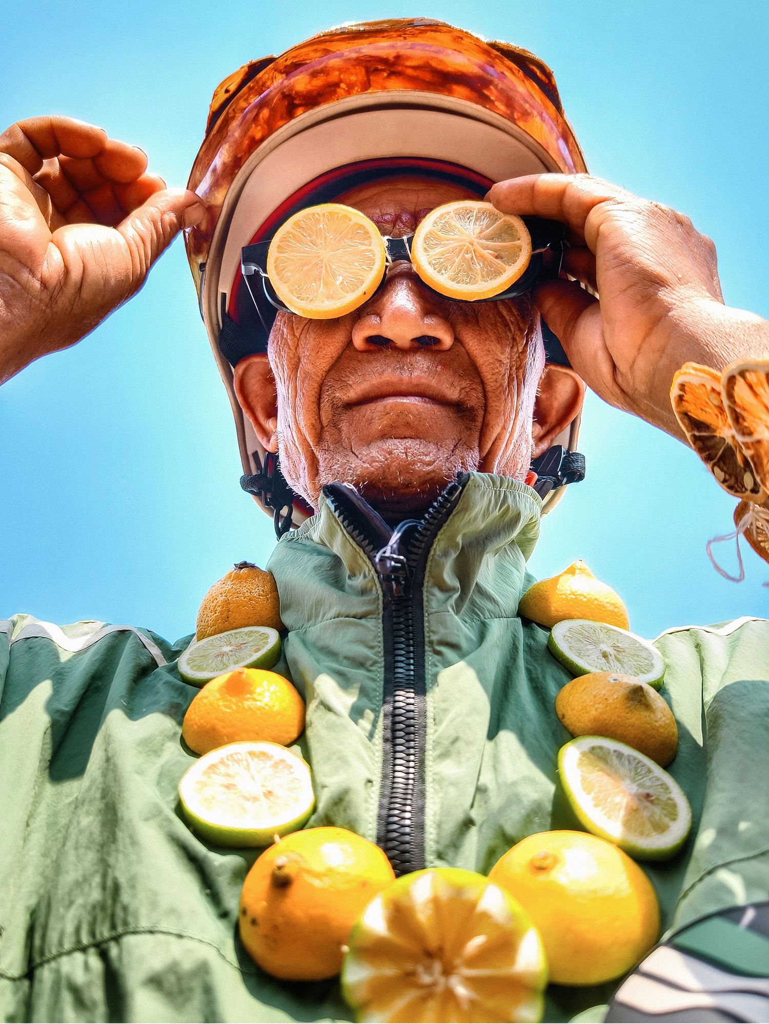
<instances>
[{"instance_id":1,"label":"clear bright blue sky behind the man","mask_svg":"<svg viewBox=\"0 0 769 1024\"><path fill-rule=\"evenodd\" d=\"M414 13L547 60L592 171L687 213L718 246L727 303L769 315L769 5L755 0L9 4L0 122L82 118L184 184L230 72L340 22ZM89 338L0 389L0 617L98 618L175 639L233 562L270 555L272 524L238 483L180 242ZM594 396L580 446L588 479L544 520L536 574L585 559L646 636L769 614L769 565L745 548L736 585L705 558L735 501L691 452ZM733 562L731 548L721 554Z\"/></svg>"}]
</instances>

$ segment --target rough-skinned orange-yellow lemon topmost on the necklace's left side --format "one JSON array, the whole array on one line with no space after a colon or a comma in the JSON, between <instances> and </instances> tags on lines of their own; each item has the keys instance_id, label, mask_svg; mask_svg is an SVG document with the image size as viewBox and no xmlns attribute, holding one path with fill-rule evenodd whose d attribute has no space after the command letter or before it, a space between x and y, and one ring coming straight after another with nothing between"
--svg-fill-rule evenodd
<instances>
[{"instance_id":1,"label":"rough-skinned orange-yellow lemon topmost on the necklace's left side","mask_svg":"<svg viewBox=\"0 0 769 1024\"><path fill-rule=\"evenodd\" d=\"M209 588L198 609L195 639L244 626L283 629L275 577L252 562L238 562Z\"/></svg>"}]
</instances>

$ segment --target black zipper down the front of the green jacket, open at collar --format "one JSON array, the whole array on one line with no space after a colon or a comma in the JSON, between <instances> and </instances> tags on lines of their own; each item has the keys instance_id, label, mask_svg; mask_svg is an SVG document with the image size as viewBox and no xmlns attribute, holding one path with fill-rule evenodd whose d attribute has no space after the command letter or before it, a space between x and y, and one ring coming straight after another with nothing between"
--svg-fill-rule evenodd
<instances>
[{"instance_id":1,"label":"black zipper down the front of the green jacket, open at collar","mask_svg":"<svg viewBox=\"0 0 769 1024\"><path fill-rule=\"evenodd\" d=\"M383 596L385 692L382 774L376 842L396 874L424 866L424 680L423 582L428 556L459 499L468 474L440 495L418 522L395 534L343 484L324 494L350 537L371 561ZM382 540L388 538L388 543Z\"/></svg>"}]
</instances>

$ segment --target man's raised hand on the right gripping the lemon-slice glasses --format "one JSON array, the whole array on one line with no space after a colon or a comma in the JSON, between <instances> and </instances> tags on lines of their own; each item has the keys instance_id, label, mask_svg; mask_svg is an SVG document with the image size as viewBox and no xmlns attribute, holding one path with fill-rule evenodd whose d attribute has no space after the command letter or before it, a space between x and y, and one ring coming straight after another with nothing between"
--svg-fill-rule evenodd
<instances>
[{"instance_id":1,"label":"man's raised hand on the right gripping the lemon-slice glasses","mask_svg":"<svg viewBox=\"0 0 769 1024\"><path fill-rule=\"evenodd\" d=\"M612 406L681 436L674 373L687 359L722 370L766 347L766 322L723 305L713 242L675 210L586 174L513 178L487 199L568 226L563 269L575 281L542 284L534 302L574 370Z\"/></svg>"}]
</instances>

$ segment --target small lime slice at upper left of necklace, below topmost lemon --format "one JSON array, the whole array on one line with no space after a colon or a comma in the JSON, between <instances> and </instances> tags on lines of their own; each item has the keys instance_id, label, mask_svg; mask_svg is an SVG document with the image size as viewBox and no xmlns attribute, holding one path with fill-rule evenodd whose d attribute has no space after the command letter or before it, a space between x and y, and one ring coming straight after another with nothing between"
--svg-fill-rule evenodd
<instances>
[{"instance_id":1,"label":"small lime slice at upper left of necklace, below topmost lemon","mask_svg":"<svg viewBox=\"0 0 769 1024\"><path fill-rule=\"evenodd\" d=\"M190 644L178 659L178 674L203 686L233 669L272 669L280 657L280 634L269 626L245 626Z\"/></svg>"}]
</instances>

